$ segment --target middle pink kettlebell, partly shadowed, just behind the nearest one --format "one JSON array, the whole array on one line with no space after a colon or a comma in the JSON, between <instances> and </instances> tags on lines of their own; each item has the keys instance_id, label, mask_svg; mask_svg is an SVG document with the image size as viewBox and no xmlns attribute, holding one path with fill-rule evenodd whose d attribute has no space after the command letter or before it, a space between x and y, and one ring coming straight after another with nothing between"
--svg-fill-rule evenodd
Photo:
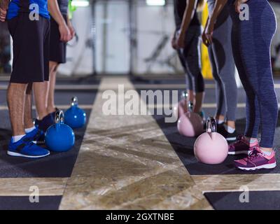
<instances>
[{"instance_id":1,"label":"middle pink kettlebell, partly shadowed, just behind the nearest one","mask_svg":"<svg viewBox=\"0 0 280 224\"><path fill-rule=\"evenodd\" d=\"M177 128L179 133L186 137L197 137L204 132L202 118L193 113L193 103L188 103L188 112L179 118Z\"/></svg>"}]
</instances>

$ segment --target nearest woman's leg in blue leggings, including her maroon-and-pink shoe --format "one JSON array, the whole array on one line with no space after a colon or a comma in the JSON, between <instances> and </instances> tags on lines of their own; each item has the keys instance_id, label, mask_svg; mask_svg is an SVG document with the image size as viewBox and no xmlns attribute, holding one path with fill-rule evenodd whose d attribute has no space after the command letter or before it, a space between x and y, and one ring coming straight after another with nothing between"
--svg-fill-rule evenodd
<instances>
[{"instance_id":1,"label":"nearest woman's leg in blue leggings, including her maroon-and-pink shoe","mask_svg":"<svg viewBox=\"0 0 280 224\"><path fill-rule=\"evenodd\" d=\"M239 66L239 69L241 68L242 83L246 88L249 103L247 109L249 123L253 121L252 118L256 118L255 123L250 124L251 127L246 125L246 134L251 134L248 133L251 131L253 137L256 137L258 126L261 125L261 141L260 146L253 147L248 158L235 160L235 165L245 170L272 169L276 167L272 146L278 117L278 103L272 78L270 45L276 29L276 18L267 1L254 0L247 3L250 18L235 21L237 22L234 28L235 41L237 41L235 47L239 49L237 64L239 66L242 62L243 66Z\"/></svg>"}]
</instances>

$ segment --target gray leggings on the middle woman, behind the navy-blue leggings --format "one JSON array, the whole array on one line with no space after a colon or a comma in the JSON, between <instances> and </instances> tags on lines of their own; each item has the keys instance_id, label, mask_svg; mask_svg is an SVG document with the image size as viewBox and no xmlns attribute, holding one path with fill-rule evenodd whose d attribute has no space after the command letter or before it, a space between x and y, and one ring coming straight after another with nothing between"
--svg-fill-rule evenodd
<instances>
[{"instance_id":1,"label":"gray leggings on the middle woman, behind the navy-blue leggings","mask_svg":"<svg viewBox=\"0 0 280 224\"><path fill-rule=\"evenodd\" d=\"M215 1L209 1L209 12ZM219 15L213 34L213 43L209 46L209 58L216 82L216 115L227 120L236 119L237 84L235 81L235 61L231 44L232 20L225 7Z\"/></svg>"}]
</instances>

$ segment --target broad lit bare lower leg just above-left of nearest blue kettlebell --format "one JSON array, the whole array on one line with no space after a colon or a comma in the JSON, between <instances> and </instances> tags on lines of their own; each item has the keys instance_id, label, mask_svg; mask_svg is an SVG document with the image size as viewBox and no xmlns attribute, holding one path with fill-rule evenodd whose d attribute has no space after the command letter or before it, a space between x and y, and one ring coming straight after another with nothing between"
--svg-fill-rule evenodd
<instances>
[{"instance_id":1,"label":"broad lit bare lower leg just above-left of nearest blue kettlebell","mask_svg":"<svg viewBox=\"0 0 280 224\"><path fill-rule=\"evenodd\" d=\"M47 97L46 93L48 92L48 82L33 83L34 90L34 99L37 111L38 120L42 120L45 116L48 116L47 106Z\"/></svg>"}]
</instances>

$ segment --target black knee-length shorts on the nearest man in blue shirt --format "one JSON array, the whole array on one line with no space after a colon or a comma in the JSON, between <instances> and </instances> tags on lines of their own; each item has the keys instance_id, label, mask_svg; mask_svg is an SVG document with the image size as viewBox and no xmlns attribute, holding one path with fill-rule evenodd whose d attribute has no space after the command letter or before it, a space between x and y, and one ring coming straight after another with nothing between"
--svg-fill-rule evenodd
<instances>
[{"instance_id":1,"label":"black knee-length shorts on the nearest man in blue shirt","mask_svg":"<svg viewBox=\"0 0 280 224\"><path fill-rule=\"evenodd\" d=\"M29 13L19 13L8 20L8 29L13 38L10 83L48 80L50 21L41 16L39 20L29 20Z\"/></svg>"}]
</instances>

